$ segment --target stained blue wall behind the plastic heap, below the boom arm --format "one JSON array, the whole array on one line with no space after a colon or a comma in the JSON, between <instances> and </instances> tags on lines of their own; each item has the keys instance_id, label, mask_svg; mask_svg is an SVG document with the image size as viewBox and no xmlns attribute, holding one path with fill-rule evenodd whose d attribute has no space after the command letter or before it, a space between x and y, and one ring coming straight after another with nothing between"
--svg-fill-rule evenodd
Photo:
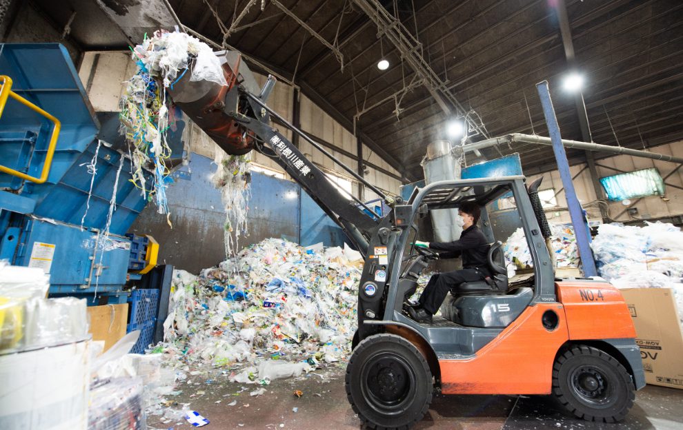
<instances>
[{"instance_id":1,"label":"stained blue wall behind the plastic heap, below the boom arm","mask_svg":"<svg viewBox=\"0 0 683 430\"><path fill-rule=\"evenodd\" d=\"M215 170L211 158L192 154L190 164L173 174L175 183L166 191L172 227L153 204L132 225L130 232L150 234L159 242L160 262L197 274L225 260L226 212L211 182ZM248 207L247 232L240 236L238 249L270 237L304 246L350 244L342 229L293 181L253 174Z\"/></svg>"}]
</instances>

